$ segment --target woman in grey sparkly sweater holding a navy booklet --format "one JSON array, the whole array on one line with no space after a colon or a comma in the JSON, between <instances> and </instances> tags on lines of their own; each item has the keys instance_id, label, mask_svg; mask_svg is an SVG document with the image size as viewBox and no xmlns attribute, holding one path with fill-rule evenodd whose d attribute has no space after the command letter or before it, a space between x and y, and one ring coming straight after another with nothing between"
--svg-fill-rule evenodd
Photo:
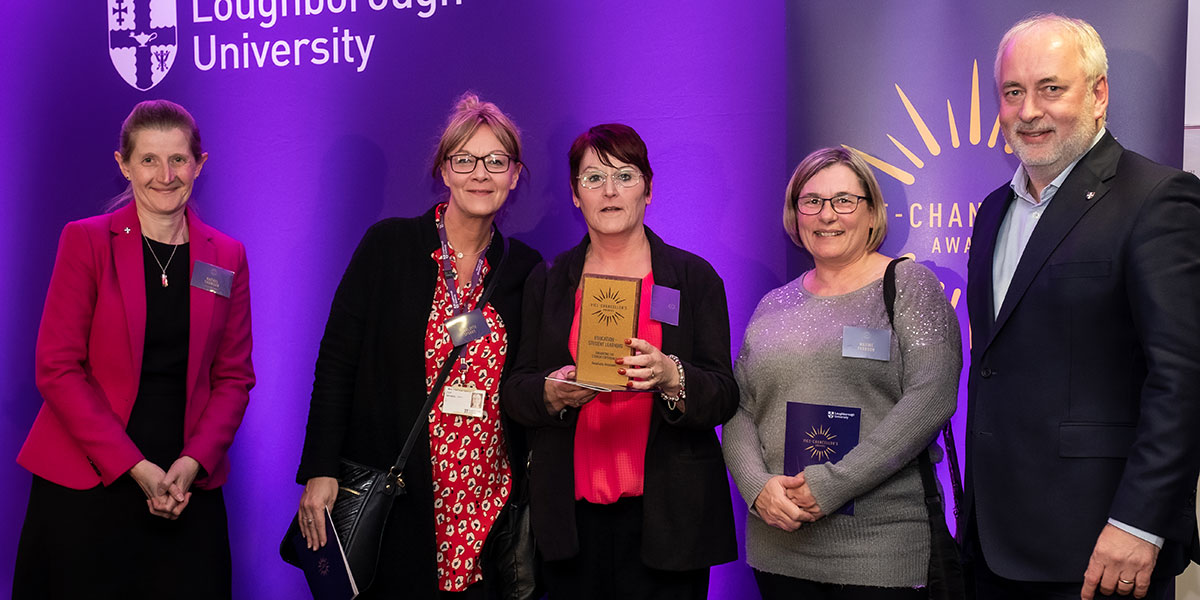
<instances>
[{"instance_id":1,"label":"woman in grey sparkly sweater holding a navy booklet","mask_svg":"<svg viewBox=\"0 0 1200 600\"><path fill-rule=\"evenodd\" d=\"M956 406L958 318L934 274L907 260L888 323L890 258L878 252L887 212L854 154L829 148L800 162L784 228L815 268L758 302L734 368L740 406L724 428L725 460L750 508L746 562L764 599L926 598L917 455L928 448L940 460L931 440ZM844 346L850 335L876 343ZM790 403L859 409L858 444L785 475ZM838 512L850 503L852 515Z\"/></svg>"}]
</instances>

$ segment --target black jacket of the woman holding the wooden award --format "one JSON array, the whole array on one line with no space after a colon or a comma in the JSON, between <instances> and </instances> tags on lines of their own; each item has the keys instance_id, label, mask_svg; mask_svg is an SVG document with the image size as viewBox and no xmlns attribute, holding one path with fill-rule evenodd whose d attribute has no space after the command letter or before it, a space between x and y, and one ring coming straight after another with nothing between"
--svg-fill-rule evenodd
<instances>
[{"instance_id":1,"label":"black jacket of the woman holding the wooden award","mask_svg":"<svg viewBox=\"0 0 1200 600\"><path fill-rule=\"evenodd\" d=\"M737 558L733 509L725 461L714 427L738 408L730 359L730 317L725 283L702 258L650 240L654 282L680 290L679 326L662 324L662 348L679 356L688 383L686 413L656 401L646 448L642 562L666 570L701 569ZM575 529L575 425L578 410L551 415L542 402L544 378L574 364L568 349L575 290L588 239L526 283L524 334L517 366L500 401L530 427L529 470L534 538L547 560L578 553ZM643 292L644 293L644 292Z\"/></svg>"}]
</instances>

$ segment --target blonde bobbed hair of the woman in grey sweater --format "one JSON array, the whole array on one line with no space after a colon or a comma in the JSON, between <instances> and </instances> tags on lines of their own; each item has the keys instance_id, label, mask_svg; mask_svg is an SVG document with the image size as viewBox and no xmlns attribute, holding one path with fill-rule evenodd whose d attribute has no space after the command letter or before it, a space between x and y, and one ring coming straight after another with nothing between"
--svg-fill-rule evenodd
<instances>
[{"instance_id":1,"label":"blonde bobbed hair of the woman in grey sweater","mask_svg":"<svg viewBox=\"0 0 1200 600\"><path fill-rule=\"evenodd\" d=\"M871 212L871 232L866 235L866 251L875 252L883 244L883 238L888 234L888 214L883 208L883 192L880 191L880 182L875 179L875 173L862 157L844 148L822 148L804 157L792 179L787 182L784 193L784 230L792 239L792 244L804 248L800 239L799 226L797 224L796 200L800 197L800 190L814 175L834 164L845 164L858 178L863 190L866 190L866 210ZM808 248L804 248L808 250Z\"/></svg>"}]
</instances>

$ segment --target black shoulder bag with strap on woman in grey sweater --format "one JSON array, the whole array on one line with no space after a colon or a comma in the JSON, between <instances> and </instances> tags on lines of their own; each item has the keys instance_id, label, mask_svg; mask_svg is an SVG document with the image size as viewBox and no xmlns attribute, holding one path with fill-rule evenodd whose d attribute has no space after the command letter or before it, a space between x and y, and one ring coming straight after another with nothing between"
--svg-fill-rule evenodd
<instances>
[{"instance_id":1,"label":"black shoulder bag with strap on woman in grey sweater","mask_svg":"<svg viewBox=\"0 0 1200 600\"><path fill-rule=\"evenodd\" d=\"M901 260L906 260L906 258L892 260L883 272L883 306L888 311L888 323L893 326L895 326L896 264ZM950 479L953 480L954 518L958 520L959 506L962 503L962 484L959 478L959 458L954 448L950 421L946 421L942 427L942 438L946 442L946 460L949 463ZM930 600L962 600L968 596L961 548L950 535L949 528L946 527L946 510L942 508L942 494L937 490L934 463L929 458L928 451L920 452L917 456L917 462L922 487L925 491L925 509L929 514L929 574L925 589L929 590Z\"/></svg>"}]
</instances>

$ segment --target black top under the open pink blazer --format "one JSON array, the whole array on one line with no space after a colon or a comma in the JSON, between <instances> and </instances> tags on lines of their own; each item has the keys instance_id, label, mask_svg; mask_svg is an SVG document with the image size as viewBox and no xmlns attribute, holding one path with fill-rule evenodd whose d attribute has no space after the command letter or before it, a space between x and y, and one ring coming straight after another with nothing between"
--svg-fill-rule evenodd
<instances>
[{"instance_id":1,"label":"black top under the open pink blazer","mask_svg":"<svg viewBox=\"0 0 1200 600\"><path fill-rule=\"evenodd\" d=\"M187 244L149 242L142 246L146 280L142 379L125 431L146 460L168 469L184 450L191 260ZM158 263L167 268L167 287L162 286Z\"/></svg>"}]
</instances>

